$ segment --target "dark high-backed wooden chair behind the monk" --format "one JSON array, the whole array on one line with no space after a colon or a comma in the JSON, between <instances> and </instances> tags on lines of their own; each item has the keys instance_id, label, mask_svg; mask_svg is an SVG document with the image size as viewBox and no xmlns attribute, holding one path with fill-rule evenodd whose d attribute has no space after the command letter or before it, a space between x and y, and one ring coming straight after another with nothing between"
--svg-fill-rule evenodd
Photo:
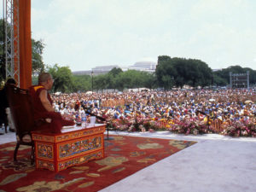
<instances>
[{"instance_id":1,"label":"dark high-backed wooden chair behind the monk","mask_svg":"<svg viewBox=\"0 0 256 192\"><path fill-rule=\"evenodd\" d=\"M32 146L31 163L34 162L34 144L31 131L34 127L32 99L28 90L20 89L15 85L6 85L6 94L9 101L9 108L12 114L17 143L15 147L14 160L20 145Z\"/></svg>"}]
</instances>

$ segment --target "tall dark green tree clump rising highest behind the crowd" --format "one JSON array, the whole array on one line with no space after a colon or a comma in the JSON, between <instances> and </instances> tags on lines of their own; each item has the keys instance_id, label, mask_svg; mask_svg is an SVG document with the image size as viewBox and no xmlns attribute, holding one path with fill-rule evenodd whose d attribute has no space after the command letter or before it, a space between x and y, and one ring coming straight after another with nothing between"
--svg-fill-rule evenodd
<instances>
[{"instance_id":1,"label":"tall dark green tree clump rising highest behind the crowd","mask_svg":"<svg viewBox=\"0 0 256 192\"><path fill-rule=\"evenodd\" d=\"M165 89L172 89L173 85L183 88L184 84L189 84L195 88L212 83L212 69L203 61L167 56L159 58L155 74L159 85Z\"/></svg>"}]
</instances>

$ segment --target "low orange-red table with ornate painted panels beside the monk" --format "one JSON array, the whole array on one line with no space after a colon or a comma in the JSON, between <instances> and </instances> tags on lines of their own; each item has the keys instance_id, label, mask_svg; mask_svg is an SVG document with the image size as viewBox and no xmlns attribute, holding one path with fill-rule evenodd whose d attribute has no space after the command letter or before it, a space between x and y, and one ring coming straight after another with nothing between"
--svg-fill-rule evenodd
<instances>
[{"instance_id":1,"label":"low orange-red table with ornate painted panels beside the monk","mask_svg":"<svg viewBox=\"0 0 256 192\"><path fill-rule=\"evenodd\" d=\"M36 167L59 172L89 160L104 157L106 125L63 127L61 133L32 131Z\"/></svg>"}]
</instances>

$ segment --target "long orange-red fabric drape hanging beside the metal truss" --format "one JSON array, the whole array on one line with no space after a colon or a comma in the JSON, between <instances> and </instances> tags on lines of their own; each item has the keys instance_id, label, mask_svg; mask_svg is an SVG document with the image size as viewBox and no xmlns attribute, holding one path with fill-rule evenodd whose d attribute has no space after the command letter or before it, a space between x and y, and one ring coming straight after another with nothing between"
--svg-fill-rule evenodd
<instances>
[{"instance_id":1,"label":"long orange-red fabric drape hanging beside the metal truss","mask_svg":"<svg viewBox=\"0 0 256 192\"><path fill-rule=\"evenodd\" d=\"M32 85L31 0L15 0L19 8L20 88Z\"/></svg>"}]
</instances>

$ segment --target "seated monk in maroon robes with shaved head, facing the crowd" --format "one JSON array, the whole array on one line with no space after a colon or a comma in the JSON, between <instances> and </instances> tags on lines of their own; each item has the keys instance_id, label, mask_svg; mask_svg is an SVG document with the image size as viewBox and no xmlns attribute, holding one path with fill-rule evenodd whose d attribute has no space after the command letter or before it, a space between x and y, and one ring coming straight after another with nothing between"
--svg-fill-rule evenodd
<instances>
[{"instance_id":1,"label":"seated monk in maroon robes with shaved head, facing the crowd","mask_svg":"<svg viewBox=\"0 0 256 192\"><path fill-rule=\"evenodd\" d=\"M54 80L49 73L38 76L38 85L29 88L32 96L33 112L36 131L61 132L62 126L74 125L73 120L63 119L61 113L56 113L52 107L52 99L48 90L52 88Z\"/></svg>"}]
</instances>

